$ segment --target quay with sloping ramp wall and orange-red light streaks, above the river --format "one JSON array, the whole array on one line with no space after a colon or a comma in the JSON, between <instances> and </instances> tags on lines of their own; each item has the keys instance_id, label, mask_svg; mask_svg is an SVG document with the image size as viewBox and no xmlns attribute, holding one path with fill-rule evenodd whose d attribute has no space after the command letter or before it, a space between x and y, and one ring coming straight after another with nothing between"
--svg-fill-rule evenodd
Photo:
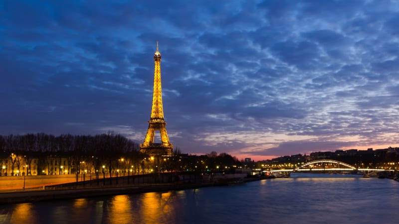
<instances>
[{"instance_id":1,"label":"quay with sloping ramp wall and orange-red light streaks, above the river","mask_svg":"<svg viewBox=\"0 0 399 224\"><path fill-rule=\"evenodd\" d=\"M115 185L117 178L113 177L113 180L110 178L105 178L85 181L85 183L79 181L62 184L45 184L43 186L28 186L25 189L21 189L20 187L18 187L18 189L5 189L0 187L0 204L30 203L38 201L76 199L107 195L140 194L148 192L179 191L185 189L239 184L267 179L266 176L230 178L228 175L226 175L223 177L224 178L208 181L208 178L199 179L198 176L190 178L185 176L183 180L172 183L151 183L153 182L151 177L145 177L145 175L136 175L136 180L143 180L144 183L137 183L136 181L132 182L131 184L126 184L126 180L129 177L125 176L119 177L119 182L121 184L118 185ZM112 181L112 185L97 185L97 183L112 183Z\"/></svg>"}]
</instances>

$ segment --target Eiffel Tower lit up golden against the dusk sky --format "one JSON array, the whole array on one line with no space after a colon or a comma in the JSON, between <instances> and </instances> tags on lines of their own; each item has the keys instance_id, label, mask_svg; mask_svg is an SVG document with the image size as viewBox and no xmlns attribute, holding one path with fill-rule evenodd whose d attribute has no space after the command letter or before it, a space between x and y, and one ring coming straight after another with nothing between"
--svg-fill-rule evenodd
<instances>
[{"instance_id":1,"label":"Eiffel Tower lit up golden against the dusk sky","mask_svg":"<svg viewBox=\"0 0 399 224\"><path fill-rule=\"evenodd\" d=\"M164 120L164 110L162 107L162 88L161 88L161 53L159 53L158 41L157 52L154 54L154 94L151 118L148 121L148 130L143 144L140 144L140 152L149 155L172 155L173 145L169 142L166 132L166 122ZM154 143L155 131L161 132L162 143Z\"/></svg>"}]
</instances>

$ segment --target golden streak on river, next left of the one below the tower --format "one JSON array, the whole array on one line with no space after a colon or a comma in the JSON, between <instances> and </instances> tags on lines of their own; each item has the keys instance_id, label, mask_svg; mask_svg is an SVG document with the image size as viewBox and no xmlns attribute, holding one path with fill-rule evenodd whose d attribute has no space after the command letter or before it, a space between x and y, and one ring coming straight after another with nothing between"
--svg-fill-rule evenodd
<instances>
[{"instance_id":1,"label":"golden streak on river, next left of the one below the tower","mask_svg":"<svg viewBox=\"0 0 399 224\"><path fill-rule=\"evenodd\" d=\"M132 223L132 211L128 195L117 195L109 205L110 223Z\"/></svg>"}]
</instances>

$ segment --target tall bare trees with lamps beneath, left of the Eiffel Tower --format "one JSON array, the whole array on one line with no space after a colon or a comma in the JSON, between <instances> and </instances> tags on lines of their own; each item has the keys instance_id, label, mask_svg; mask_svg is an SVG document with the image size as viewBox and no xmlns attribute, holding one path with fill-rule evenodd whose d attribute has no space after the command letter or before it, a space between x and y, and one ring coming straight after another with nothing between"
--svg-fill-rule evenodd
<instances>
[{"instance_id":1,"label":"tall bare trees with lamps beneath, left of the Eiffel Tower","mask_svg":"<svg viewBox=\"0 0 399 224\"><path fill-rule=\"evenodd\" d=\"M37 170L48 169L48 174L54 173L61 159L67 160L67 173L77 173L81 166L89 166L101 170L106 166L112 173L115 167L123 164L139 164L145 155L139 153L139 144L126 137L112 132L99 135L71 135L37 133L25 135L0 135L0 159L6 164L10 160L11 172L14 168L21 169L26 164L27 175L31 174L32 159L35 159ZM123 164L117 164L124 158ZM120 161L119 161L120 162ZM55 166L55 167L54 167ZM57 170L61 174L61 170ZM11 174L13 175L13 174Z\"/></svg>"}]
</instances>

